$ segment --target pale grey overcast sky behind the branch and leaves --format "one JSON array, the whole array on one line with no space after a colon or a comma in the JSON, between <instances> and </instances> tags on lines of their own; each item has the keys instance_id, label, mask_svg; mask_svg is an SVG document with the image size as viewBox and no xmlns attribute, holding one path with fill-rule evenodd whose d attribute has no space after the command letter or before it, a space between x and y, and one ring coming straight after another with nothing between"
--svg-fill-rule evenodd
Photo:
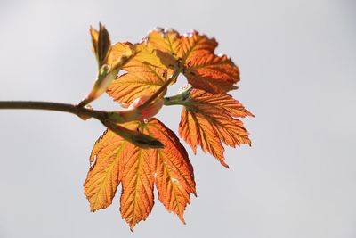
<instances>
[{"instance_id":1,"label":"pale grey overcast sky behind the branch and leaves","mask_svg":"<svg viewBox=\"0 0 356 238\"><path fill-rule=\"evenodd\" d=\"M131 233L119 194L91 213L83 193L98 121L0 111L0 237L356 237L355 15L353 0L0 0L0 100L77 103L101 21L113 42L156 26L215 37L241 71L231 94L256 116L244 119L252 147L226 150L230 169L187 147L198 192L187 225L156 200ZM180 111L158 118L176 131Z\"/></svg>"}]
</instances>

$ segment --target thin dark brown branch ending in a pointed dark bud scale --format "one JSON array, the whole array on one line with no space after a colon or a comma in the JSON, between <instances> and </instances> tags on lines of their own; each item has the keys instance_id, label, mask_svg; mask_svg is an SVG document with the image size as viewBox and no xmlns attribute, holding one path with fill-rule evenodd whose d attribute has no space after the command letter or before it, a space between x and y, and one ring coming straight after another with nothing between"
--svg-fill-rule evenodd
<instances>
[{"instance_id":1,"label":"thin dark brown branch ending in a pointed dark bud scale","mask_svg":"<svg viewBox=\"0 0 356 238\"><path fill-rule=\"evenodd\" d=\"M97 111L88 109L74 104L68 103L49 103L49 102L31 102L31 101L0 101L1 109L24 109L24 110L47 110L47 111L64 111L77 115L81 119L98 119L101 123L110 130L120 135L127 141L144 148L162 148L157 139L144 135L136 131L128 130L125 127L120 127L117 122L110 119L112 111ZM119 116L118 113L117 117Z\"/></svg>"}]
</instances>

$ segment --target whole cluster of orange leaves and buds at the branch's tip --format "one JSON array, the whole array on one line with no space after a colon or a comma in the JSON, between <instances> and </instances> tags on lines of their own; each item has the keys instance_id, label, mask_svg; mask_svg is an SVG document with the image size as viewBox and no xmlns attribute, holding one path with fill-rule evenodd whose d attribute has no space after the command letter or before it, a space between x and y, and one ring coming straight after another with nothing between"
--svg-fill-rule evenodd
<instances>
[{"instance_id":1,"label":"whole cluster of orange leaves and buds at the branch's tip","mask_svg":"<svg viewBox=\"0 0 356 238\"><path fill-rule=\"evenodd\" d=\"M223 144L251 144L239 118L254 115L227 94L237 89L239 68L215 54L216 40L198 31L153 29L140 43L114 45L102 25L90 33L98 74L79 105L106 92L125 108L111 114L108 129L94 144L85 180L91 209L107 208L121 184L121 216L133 229L149 216L156 187L158 200L184 222L190 193L196 195L193 168L177 135L154 116L164 105L181 105L180 137L193 152L199 146L228 167ZM189 84L166 96L179 75ZM156 144L148 143L152 139Z\"/></svg>"}]
</instances>

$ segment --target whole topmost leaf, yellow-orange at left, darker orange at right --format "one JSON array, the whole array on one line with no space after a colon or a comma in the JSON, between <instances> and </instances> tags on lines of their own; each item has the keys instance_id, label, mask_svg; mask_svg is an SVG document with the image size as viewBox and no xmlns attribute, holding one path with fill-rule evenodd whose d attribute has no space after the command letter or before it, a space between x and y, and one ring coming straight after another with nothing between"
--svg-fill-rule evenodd
<instances>
[{"instance_id":1,"label":"whole topmost leaf, yellow-orange at left, darker orange at right","mask_svg":"<svg viewBox=\"0 0 356 238\"><path fill-rule=\"evenodd\" d=\"M217 45L214 38L197 31L181 36L173 29L154 29L135 45L137 54L122 68L127 73L109 86L108 94L127 106L138 97L154 94L174 68L182 70L195 88L225 94L237 88L239 69L226 55L214 54Z\"/></svg>"}]
</instances>

